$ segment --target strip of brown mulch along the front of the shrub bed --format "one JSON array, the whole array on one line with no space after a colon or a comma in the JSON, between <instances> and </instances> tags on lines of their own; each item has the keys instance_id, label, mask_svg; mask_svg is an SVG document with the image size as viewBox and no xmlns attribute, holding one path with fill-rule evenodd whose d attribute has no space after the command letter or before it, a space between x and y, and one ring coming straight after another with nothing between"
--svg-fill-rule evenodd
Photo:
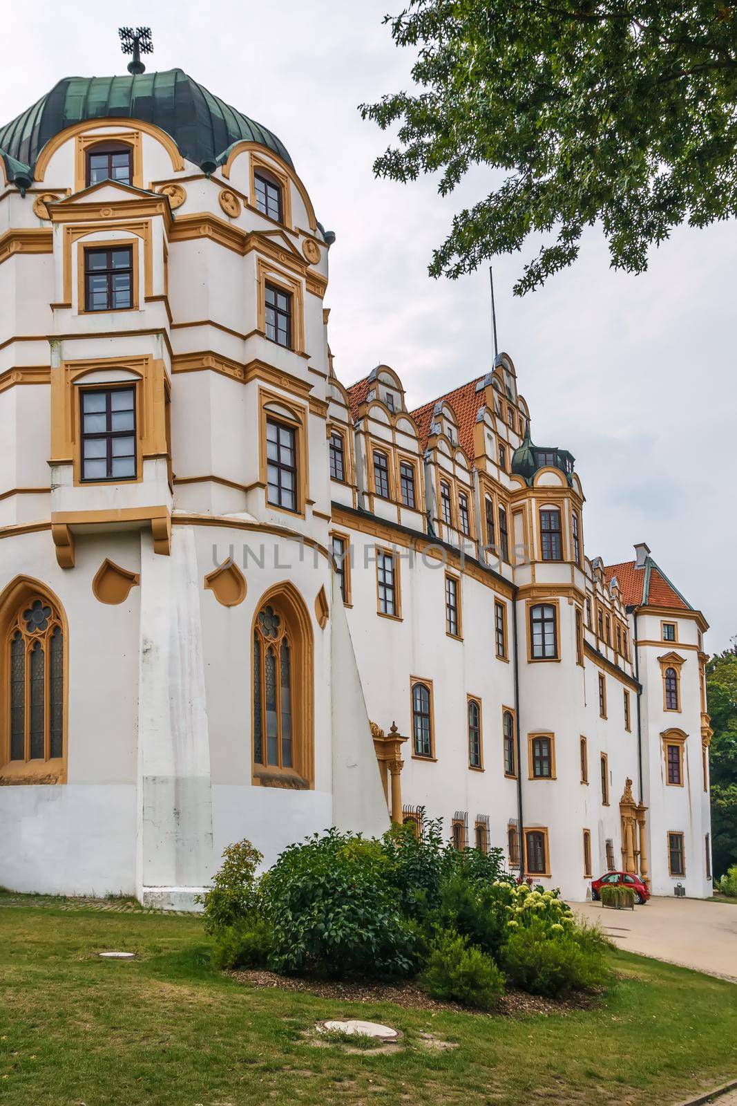
<instances>
[{"instance_id":1,"label":"strip of brown mulch along the front of the shrub bed","mask_svg":"<svg viewBox=\"0 0 737 1106\"><path fill-rule=\"evenodd\" d=\"M522 1014L568 1014L575 1010L592 1010L599 1004L599 995L580 994L571 999L544 999L539 994L525 991L507 991L499 1006L493 1013L470 1010L457 1002L439 1002L421 991L413 983L354 983L346 980L333 981L306 975L277 975L271 971L229 971L228 975L250 987L274 987L283 991L304 991L318 999L340 999L344 1002L393 1002L408 1010L452 1011L476 1016L518 1018Z\"/></svg>"}]
</instances>

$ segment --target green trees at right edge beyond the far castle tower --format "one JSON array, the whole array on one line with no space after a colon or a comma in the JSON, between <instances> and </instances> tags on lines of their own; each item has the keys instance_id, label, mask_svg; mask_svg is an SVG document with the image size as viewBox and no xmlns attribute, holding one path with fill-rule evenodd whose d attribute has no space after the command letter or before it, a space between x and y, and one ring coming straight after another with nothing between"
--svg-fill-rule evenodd
<instances>
[{"instance_id":1,"label":"green trees at right edge beyond the far castle tower","mask_svg":"<svg viewBox=\"0 0 737 1106\"><path fill-rule=\"evenodd\" d=\"M706 666L712 716L712 852L715 878L737 864L737 645Z\"/></svg>"}]
</instances>

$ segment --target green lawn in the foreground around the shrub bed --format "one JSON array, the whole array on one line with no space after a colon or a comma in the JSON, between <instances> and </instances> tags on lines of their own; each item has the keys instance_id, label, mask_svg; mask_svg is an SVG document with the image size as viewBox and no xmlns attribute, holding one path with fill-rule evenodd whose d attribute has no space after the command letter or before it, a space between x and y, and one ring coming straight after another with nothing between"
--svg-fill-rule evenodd
<instances>
[{"instance_id":1,"label":"green lawn in the foreground around the shrub bed","mask_svg":"<svg viewBox=\"0 0 737 1106\"><path fill-rule=\"evenodd\" d=\"M0 1106L654 1106L737 1076L737 987L654 960L613 952L620 982L592 1011L431 1013L245 987L212 971L199 919L110 907L0 896ZM340 1016L401 1047L303 1035Z\"/></svg>"}]
</instances>

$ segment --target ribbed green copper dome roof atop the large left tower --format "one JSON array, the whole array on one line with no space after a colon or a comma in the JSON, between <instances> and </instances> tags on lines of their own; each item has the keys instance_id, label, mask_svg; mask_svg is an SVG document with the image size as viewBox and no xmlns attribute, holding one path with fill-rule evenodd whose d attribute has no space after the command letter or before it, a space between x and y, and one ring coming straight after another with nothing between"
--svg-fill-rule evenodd
<instances>
[{"instance_id":1,"label":"ribbed green copper dome roof atop the large left tower","mask_svg":"<svg viewBox=\"0 0 737 1106\"><path fill-rule=\"evenodd\" d=\"M54 135L85 119L141 119L166 131L189 161L220 164L229 147L245 139L292 158L276 135L213 96L182 70L120 76L67 76L32 107L0 127L0 156L10 176L32 175ZM20 163L20 164L19 164Z\"/></svg>"}]
</instances>

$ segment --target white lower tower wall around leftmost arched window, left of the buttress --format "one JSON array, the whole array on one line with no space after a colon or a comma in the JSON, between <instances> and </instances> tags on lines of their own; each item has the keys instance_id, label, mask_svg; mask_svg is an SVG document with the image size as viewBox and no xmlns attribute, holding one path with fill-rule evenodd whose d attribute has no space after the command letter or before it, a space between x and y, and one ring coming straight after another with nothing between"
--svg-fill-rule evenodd
<instances>
[{"instance_id":1,"label":"white lower tower wall around leftmost arched window, left of the buttress","mask_svg":"<svg viewBox=\"0 0 737 1106\"><path fill-rule=\"evenodd\" d=\"M69 620L69 782L0 787L0 885L54 894L131 894L136 858L138 588L108 606L92 593L105 556L136 572L137 535L83 538L56 564L48 531L0 542L0 587L19 570L50 587Z\"/></svg>"}]
</instances>

